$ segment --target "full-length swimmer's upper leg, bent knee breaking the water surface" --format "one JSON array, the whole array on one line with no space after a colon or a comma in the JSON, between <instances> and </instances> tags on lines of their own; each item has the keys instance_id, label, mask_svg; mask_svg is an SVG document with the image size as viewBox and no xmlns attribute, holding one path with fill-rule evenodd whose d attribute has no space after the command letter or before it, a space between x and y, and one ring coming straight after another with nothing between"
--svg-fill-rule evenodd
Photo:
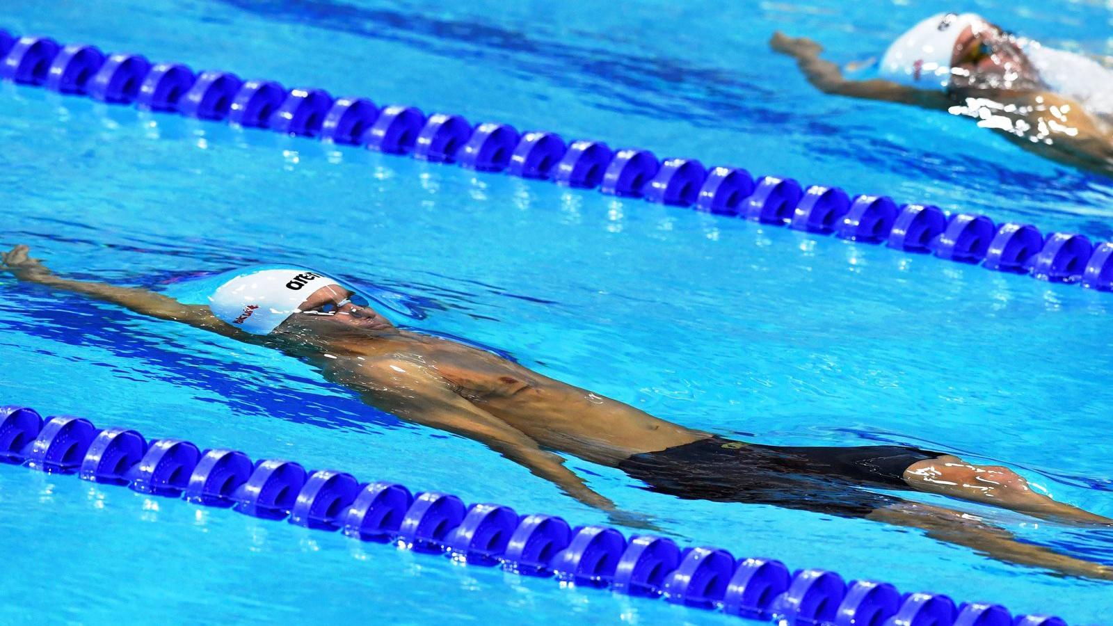
<instances>
[{"instance_id":1,"label":"full-length swimmer's upper leg, bent knee breaking the water surface","mask_svg":"<svg viewBox=\"0 0 1113 626\"><path fill-rule=\"evenodd\" d=\"M1001 466L976 466L945 454L908 466L902 478L917 491L993 505L1044 519L1113 526L1113 519L1033 491L1022 476Z\"/></svg>"}]
</instances>

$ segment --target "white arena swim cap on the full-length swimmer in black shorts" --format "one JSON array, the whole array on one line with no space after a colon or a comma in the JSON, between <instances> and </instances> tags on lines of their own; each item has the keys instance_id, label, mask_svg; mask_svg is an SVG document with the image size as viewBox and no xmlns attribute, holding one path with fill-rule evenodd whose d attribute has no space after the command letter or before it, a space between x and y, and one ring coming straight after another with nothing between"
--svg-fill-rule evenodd
<instances>
[{"instance_id":1,"label":"white arena swim cap on the full-length swimmer in black shorts","mask_svg":"<svg viewBox=\"0 0 1113 626\"><path fill-rule=\"evenodd\" d=\"M293 315L313 292L328 285L344 288L308 270L255 270L217 287L208 299L209 309L244 332L265 335Z\"/></svg>"}]
</instances>

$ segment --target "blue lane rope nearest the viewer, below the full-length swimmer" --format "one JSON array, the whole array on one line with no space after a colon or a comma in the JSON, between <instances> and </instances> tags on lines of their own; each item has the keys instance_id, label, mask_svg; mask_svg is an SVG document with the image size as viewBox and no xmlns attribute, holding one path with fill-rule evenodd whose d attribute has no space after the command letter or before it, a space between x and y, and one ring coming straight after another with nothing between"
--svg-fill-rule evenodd
<instances>
[{"instance_id":1,"label":"blue lane rope nearest the viewer, below the full-length swimmer","mask_svg":"<svg viewBox=\"0 0 1113 626\"><path fill-rule=\"evenodd\" d=\"M235 450L201 450L180 439L148 441L135 430L97 429L68 415L46 421L32 409L0 407L0 462L363 541L447 555L467 566L499 566L524 576L789 626L1066 626L1058 617L1020 615L999 605L945 595L900 594L888 583L846 581L834 571L790 573L779 560L736 559L727 550L681 548L654 536L627 538L603 526L572 527L560 517L518 515L501 505L467 506L456 496L414 492L392 482L359 482L293 461L253 462Z\"/></svg>"}]
</instances>

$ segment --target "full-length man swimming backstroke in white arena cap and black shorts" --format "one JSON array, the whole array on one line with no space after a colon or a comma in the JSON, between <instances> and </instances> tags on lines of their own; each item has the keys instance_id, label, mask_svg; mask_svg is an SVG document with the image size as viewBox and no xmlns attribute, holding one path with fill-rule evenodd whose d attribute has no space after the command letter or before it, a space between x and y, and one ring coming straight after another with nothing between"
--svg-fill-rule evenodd
<instances>
[{"instance_id":1,"label":"full-length man swimming backstroke in white arena cap and black shorts","mask_svg":"<svg viewBox=\"0 0 1113 626\"><path fill-rule=\"evenodd\" d=\"M247 270L183 304L145 288L61 277L28 247L2 255L20 281L277 349L398 418L479 441L600 509L556 452L623 470L679 498L752 502L920 528L1004 560L1113 579L1113 568L1014 540L967 513L868 488L938 493L1075 524L1113 520L1033 491L1004 467L902 446L777 447L671 423L491 352L395 327L338 281L303 268Z\"/></svg>"}]
</instances>

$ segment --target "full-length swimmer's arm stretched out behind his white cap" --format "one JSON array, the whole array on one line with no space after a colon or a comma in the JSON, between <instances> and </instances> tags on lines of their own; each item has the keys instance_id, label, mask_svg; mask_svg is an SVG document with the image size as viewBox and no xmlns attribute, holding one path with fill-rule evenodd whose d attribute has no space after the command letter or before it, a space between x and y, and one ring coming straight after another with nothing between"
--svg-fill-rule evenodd
<instances>
[{"instance_id":1,"label":"full-length swimmer's arm stretched out behind his white cap","mask_svg":"<svg viewBox=\"0 0 1113 626\"><path fill-rule=\"evenodd\" d=\"M244 341L250 340L246 333L232 329L228 324L216 319L208 306L183 304L173 297L141 287L121 287L108 283L63 278L51 272L42 264L41 260L28 256L28 252L29 248L26 245L17 245L9 252L0 253L0 261L2 261L0 270L11 272L23 282L79 293L95 300L118 304L129 311L151 317L181 322Z\"/></svg>"}]
</instances>

